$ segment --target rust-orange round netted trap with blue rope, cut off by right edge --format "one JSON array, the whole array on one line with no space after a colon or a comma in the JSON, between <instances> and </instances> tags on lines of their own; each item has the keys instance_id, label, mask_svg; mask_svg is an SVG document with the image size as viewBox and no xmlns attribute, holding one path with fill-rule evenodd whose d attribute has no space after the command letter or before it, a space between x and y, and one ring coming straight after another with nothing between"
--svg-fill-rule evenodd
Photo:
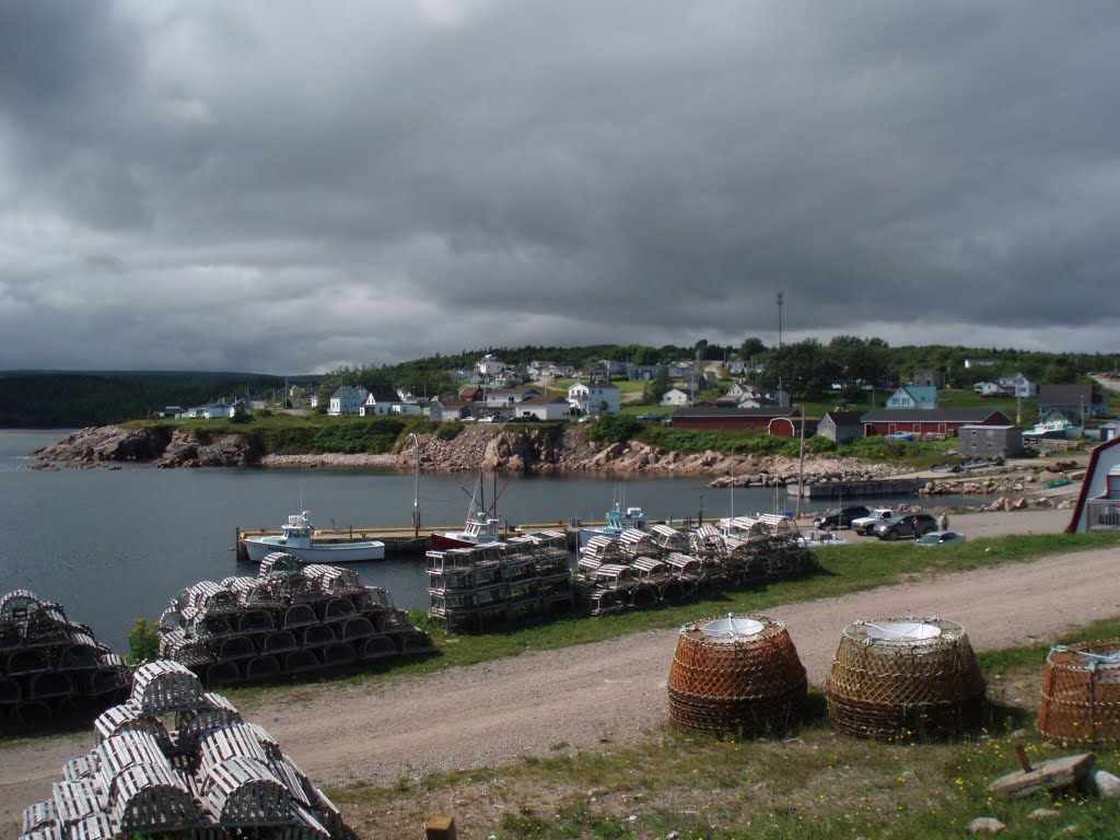
<instances>
[{"instance_id":1,"label":"rust-orange round netted trap with blue rope, cut off by right edge","mask_svg":"<svg viewBox=\"0 0 1120 840\"><path fill-rule=\"evenodd\" d=\"M1120 638L1051 650L1038 731L1065 744L1120 745Z\"/></svg>"}]
</instances>

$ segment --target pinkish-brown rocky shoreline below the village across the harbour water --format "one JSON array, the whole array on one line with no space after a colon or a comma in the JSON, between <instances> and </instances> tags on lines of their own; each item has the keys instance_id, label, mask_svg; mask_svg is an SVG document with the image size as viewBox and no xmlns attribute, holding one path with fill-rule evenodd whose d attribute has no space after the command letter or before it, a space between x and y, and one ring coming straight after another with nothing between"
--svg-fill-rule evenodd
<instances>
[{"instance_id":1,"label":"pinkish-brown rocky shoreline below the village across the harbour water","mask_svg":"<svg viewBox=\"0 0 1120 840\"><path fill-rule=\"evenodd\" d=\"M794 484L804 476L806 484L868 482L898 477L906 470L897 465L866 464L851 458L806 455L804 465L796 458L752 455L729 456L706 451L684 454L663 451L638 442L624 441L598 446L589 440L586 428L534 427L507 430L501 427L467 426L450 439L437 435L419 436L420 465L428 472L457 473L601 473L612 475L706 476L712 486L773 487ZM377 468L411 472L416 449L381 455L268 455L256 452L249 437L228 432L200 440L181 430L167 428L127 429L118 426L82 429L58 442L37 449L31 457L41 460L37 468L120 468L122 463L144 463L157 468L199 467L301 467ZM920 495L998 496L999 510L1007 505L1053 506L1045 493L1047 483L1076 475L1076 463L998 467L982 476L930 478ZM911 474L913 476L913 474ZM1058 496L1065 494L1057 494ZM1018 496L1012 501L1014 496ZM1030 501L1028 501L1028 498Z\"/></svg>"}]
</instances>

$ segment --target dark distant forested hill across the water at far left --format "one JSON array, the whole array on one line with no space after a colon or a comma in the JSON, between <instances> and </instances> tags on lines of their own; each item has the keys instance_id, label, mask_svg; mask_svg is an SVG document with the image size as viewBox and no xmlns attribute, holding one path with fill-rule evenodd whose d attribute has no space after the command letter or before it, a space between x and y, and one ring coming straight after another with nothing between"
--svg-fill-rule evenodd
<instances>
[{"instance_id":1,"label":"dark distant forested hill across the water at far left","mask_svg":"<svg viewBox=\"0 0 1120 840\"><path fill-rule=\"evenodd\" d=\"M150 417L165 405L283 388L282 376L250 373L0 373L0 428L62 429Z\"/></svg>"}]
</instances>

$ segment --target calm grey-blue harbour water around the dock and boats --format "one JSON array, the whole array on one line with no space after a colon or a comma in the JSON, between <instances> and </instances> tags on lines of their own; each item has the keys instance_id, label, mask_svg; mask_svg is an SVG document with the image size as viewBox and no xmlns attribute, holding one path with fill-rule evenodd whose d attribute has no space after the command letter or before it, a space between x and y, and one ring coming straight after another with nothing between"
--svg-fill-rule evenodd
<instances>
[{"instance_id":1,"label":"calm grey-blue harbour water around the dock and boats","mask_svg":"<svg viewBox=\"0 0 1120 840\"><path fill-rule=\"evenodd\" d=\"M156 619L170 598L199 580L251 575L232 551L237 528L276 529L289 513L311 512L318 528L408 526L414 476L340 469L36 470L27 458L60 437L54 431L0 430L0 595L30 589L63 604L99 641L127 653L139 616ZM487 498L493 492L487 478ZM470 475L421 475L424 525L460 528ZM601 520L610 478L498 478L498 514L511 524ZM731 513L731 492L700 478L628 480L626 501L655 519ZM899 498L892 500L894 502ZM867 504L871 500L864 501ZM738 488L735 513L793 507L784 491ZM806 505L803 510L824 507ZM363 580L383 586L405 608L428 607L423 560L354 563Z\"/></svg>"}]
</instances>

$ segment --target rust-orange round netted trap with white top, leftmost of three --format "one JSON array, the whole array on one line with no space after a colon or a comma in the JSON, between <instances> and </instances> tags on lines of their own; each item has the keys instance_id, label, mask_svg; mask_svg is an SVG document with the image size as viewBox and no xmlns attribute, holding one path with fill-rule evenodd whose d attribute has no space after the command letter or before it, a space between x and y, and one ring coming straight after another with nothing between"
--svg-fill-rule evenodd
<instances>
[{"instance_id":1,"label":"rust-orange round netted trap with white top, leftmost of three","mask_svg":"<svg viewBox=\"0 0 1120 840\"><path fill-rule=\"evenodd\" d=\"M784 731L805 706L805 668L781 622L727 615L681 627L669 670L678 729L721 735Z\"/></svg>"}]
</instances>

